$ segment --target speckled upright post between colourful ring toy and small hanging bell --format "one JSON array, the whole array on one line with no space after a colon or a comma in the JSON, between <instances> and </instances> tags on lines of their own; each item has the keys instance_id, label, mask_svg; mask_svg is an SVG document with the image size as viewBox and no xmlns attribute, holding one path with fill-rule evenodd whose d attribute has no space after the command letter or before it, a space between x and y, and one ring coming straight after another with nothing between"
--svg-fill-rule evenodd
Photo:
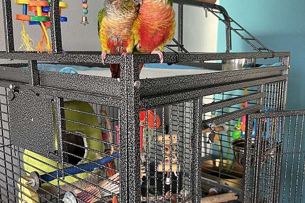
<instances>
[{"instance_id":1,"label":"speckled upright post between colourful ring toy and small hanging bell","mask_svg":"<svg viewBox=\"0 0 305 203\"><path fill-rule=\"evenodd\" d=\"M4 0L3 0L4 1ZM59 18L59 0L50 0L50 22L51 22L51 41L52 53L63 53L62 29Z\"/></svg>"}]
</instances>

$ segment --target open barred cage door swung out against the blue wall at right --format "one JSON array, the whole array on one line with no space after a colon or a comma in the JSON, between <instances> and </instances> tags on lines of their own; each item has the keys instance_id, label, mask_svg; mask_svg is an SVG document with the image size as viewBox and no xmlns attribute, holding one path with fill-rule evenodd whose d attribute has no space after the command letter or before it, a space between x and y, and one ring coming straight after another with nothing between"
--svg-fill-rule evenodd
<instances>
[{"instance_id":1,"label":"open barred cage door swung out against the blue wall at right","mask_svg":"<svg viewBox=\"0 0 305 203\"><path fill-rule=\"evenodd\" d=\"M305 111L250 114L245 202L305 202Z\"/></svg>"}]
</instances>

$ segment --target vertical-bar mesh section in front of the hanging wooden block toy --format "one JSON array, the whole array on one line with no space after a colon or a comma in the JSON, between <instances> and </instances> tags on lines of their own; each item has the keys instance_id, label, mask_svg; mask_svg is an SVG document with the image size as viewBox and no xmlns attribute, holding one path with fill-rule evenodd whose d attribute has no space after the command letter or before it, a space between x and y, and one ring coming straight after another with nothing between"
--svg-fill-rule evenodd
<instances>
[{"instance_id":1,"label":"vertical-bar mesh section in front of the hanging wooden block toy","mask_svg":"<svg viewBox=\"0 0 305 203\"><path fill-rule=\"evenodd\" d=\"M190 201L193 101L141 114L142 201Z\"/></svg>"}]
</instances>

